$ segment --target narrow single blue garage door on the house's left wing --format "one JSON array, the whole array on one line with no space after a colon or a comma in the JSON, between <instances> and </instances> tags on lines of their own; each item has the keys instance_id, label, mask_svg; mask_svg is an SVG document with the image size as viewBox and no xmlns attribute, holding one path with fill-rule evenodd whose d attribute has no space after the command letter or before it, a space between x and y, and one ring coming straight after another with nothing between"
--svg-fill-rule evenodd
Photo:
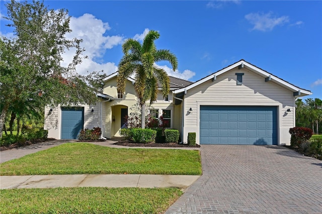
<instances>
[{"instance_id":1,"label":"narrow single blue garage door on the house's left wing","mask_svg":"<svg viewBox=\"0 0 322 214\"><path fill-rule=\"evenodd\" d=\"M84 108L61 108L61 139L77 139L84 128Z\"/></svg>"}]
</instances>

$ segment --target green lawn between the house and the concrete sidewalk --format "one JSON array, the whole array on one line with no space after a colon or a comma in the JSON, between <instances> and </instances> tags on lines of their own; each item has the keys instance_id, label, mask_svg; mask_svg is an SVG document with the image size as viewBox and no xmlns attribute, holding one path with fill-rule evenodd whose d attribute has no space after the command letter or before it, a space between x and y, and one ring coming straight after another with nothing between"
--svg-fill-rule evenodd
<instances>
[{"instance_id":1,"label":"green lawn between the house and the concrete sidewalk","mask_svg":"<svg viewBox=\"0 0 322 214\"><path fill-rule=\"evenodd\" d=\"M66 143L2 163L0 168L0 175L201 175L201 158L197 150L118 149Z\"/></svg>"}]
</instances>

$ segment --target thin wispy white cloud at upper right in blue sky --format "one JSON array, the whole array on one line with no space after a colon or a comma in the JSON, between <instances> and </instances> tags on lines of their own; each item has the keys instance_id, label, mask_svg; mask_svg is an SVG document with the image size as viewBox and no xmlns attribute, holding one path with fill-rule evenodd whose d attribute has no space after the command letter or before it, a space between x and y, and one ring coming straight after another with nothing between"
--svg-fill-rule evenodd
<instances>
[{"instance_id":1,"label":"thin wispy white cloud at upper right in blue sky","mask_svg":"<svg viewBox=\"0 0 322 214\"><path fill-rule=\"evenodd\" d=\"M267 14L251 13L247 14L245 18L254 25L252 30L271 31L275 26L282 26L289 22L287 16L273 17L272 12Z\"/></svg>"}]
</instances>

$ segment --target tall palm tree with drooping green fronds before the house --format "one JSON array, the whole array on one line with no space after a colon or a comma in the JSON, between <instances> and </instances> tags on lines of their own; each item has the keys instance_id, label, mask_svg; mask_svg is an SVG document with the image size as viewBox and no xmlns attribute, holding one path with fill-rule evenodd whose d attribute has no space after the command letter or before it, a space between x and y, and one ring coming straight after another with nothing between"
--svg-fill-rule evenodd
<instances>
[{"instance_id":1,"label":"tall palm tree with drooping green fronds before the house","mask_svg":"<svg viewBox=\"0 0 322 214\"><path fill-rule=\"evenodd\" d=\"M177 57L169 50L156 50L154 40L160 34L149 31L141 44L134 39L127 39L122 45L124 56L119 63L117 87L121 93L125 90L126 79L134 74L135 91L141 105L141 128L145 128L145 102L150 104L156 100L158 83L162 94L167 96L170 92L170 79L167 72L156 66L156 62L169 61L175 71L178 66Z\"/></svg>"}]
</instances>

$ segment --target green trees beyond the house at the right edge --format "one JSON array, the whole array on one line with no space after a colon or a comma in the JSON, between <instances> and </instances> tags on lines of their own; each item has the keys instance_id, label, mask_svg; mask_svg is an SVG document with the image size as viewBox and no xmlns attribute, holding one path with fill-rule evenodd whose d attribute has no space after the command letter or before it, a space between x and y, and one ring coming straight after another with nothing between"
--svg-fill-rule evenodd
<instances>
[{"instance_id":1,"label":"green trees beyond the house at the right edge","mask_svg":"<svg viewBox=\"0 0 322 214\"><path fill-rule=\"evenodd\" d=\"M322 100L319 98L308 98L295 100L295 125L313 130L318 135L322 132Z\"/></svg>"}]
</instances>

